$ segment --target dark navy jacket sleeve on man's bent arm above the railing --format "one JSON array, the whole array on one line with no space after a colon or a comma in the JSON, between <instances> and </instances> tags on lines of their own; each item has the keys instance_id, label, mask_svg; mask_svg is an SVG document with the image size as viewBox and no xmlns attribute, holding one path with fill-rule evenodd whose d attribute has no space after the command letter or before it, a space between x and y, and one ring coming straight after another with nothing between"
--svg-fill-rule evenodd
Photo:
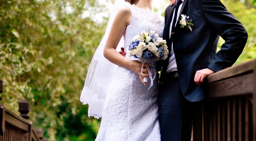
<instances>
[{"instance_id":1,"label":"dark navy jacket sleeve on man's bent arm above the railing","mask_svg":"<svg viewBox=\"0 0 256 141\"><path fill-rule=\"evenodd\" d=\"M218 72L232 66L241 55L248 34L244 26L231 14L219 0L199 0L205 18L225 40L208 68Z\"/></svg>"}]
</instances>

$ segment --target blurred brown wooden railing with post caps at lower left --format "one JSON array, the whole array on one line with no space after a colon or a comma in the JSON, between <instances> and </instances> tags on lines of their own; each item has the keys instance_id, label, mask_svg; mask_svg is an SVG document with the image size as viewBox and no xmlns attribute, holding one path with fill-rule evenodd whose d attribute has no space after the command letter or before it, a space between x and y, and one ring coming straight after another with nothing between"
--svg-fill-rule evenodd
<instances>
[{"instance_id":1,"label":"blurred brown wooden railing with post caps at lower left","mask_svg":"<svg viewBox=\"0 0 256 141\"><path fill-rule=\"evenodd\" d=\"M0 80L0 93L3 92L3 81ZM0 98L2 99L2 98ZM0 105L0 141L48 141L43 138L41 128L33 129L29 121L30 105L26 100L19 102L20 116Z\"/></svg>"}]
</instances>

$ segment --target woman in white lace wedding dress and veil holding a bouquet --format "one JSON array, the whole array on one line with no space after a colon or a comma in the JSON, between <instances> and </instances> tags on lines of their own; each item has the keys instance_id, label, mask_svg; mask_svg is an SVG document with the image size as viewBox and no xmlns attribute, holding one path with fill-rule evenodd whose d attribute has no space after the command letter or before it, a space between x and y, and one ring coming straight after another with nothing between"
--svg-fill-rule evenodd
<instances>
[{"instance_id":1,"label":"woman in white lace wedding dress and veil holding a bouquet","mask_svg":"<svg viewBox=\"0 0 256 141\"><path fill-rule=\"evenodd\" d=\"M133 37L142 31L153 30L162 37L164 17L153 11L152 0L125 1L130 4L115 1L80 101L89 104L89 116L102 117L96 141L160 141L159 74L148 89L149 83L143 82L143 77L149 76L148 70L143 68L141 73L142 63L122 56L116 49L124 46L126 51Z\"/></svg>"}]
</instances>

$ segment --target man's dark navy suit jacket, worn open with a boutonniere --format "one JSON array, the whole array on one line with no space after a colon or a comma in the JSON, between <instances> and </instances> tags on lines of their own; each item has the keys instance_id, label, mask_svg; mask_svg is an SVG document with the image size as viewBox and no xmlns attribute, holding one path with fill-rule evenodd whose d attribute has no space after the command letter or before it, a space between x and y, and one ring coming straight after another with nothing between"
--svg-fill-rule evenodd
<instances>
[{"instance_id":1,"label":"man's dark navy suit jacket, worn open with a boutonniere","mask_svg":"<svg viewBox=\"0 0 256 141\"><path fill-rule=\"evenodd\" d=\"M169 27L173 9L174 6L166 9L163 31L169 50L172 46ZM194 26L191 32L177 22L173 34L180 88L187 100L200 101L205 97L206 88L194 82L195 72L205 68L218 72L232 66L243 51L248 35L244 26L219 0L184 0L181 14L191 17ZM219 36L225 43L216 54ZM164 74L162 72L161 76Z\"/></svg>"}]
</instances>

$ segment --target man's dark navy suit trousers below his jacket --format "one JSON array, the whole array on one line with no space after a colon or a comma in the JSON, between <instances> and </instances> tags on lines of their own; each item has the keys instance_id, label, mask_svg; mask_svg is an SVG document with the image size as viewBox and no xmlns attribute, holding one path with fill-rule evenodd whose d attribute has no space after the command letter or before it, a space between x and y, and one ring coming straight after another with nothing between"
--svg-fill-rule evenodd
<instances>
[{"instance_id":1,"label":"man's dark navy suit trousers below his jacket","mask_svg":"<svg viewBox=\"0 0 256 141\"><path fill-rule=\"evenodd\" d=\"M186 100L178 78L160 83L157 104L161 141L191 141L192 121L200 103Z\"/></svg>"}]
</instances>

